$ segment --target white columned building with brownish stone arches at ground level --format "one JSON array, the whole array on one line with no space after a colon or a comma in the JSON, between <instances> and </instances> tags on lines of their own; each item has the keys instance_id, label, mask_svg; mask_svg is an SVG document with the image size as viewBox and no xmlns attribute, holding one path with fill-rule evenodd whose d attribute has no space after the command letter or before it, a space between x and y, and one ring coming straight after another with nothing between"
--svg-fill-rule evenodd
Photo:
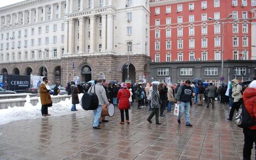
<instances>
[{"instance_id":1,"label":"white columned building with brownish stone arches at ground level","mask_svg":"<svg viewBox=\"0 0 256 160\"><path fill-rule=\"evenodd\" d=\"M0 8L0 71L43 75L44 69L62 84L75 75L123 81L129 61L130 79L138 80L150 60L148 3L27 0Z\"/></svg>"}]
</instances>

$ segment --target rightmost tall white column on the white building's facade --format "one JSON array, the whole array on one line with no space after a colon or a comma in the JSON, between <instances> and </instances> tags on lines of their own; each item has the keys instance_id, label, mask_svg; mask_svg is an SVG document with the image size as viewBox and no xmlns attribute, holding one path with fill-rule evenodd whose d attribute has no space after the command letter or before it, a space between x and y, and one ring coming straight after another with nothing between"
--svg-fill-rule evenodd
<instances>
[{"instance_id":1,"label":"rightmost tall white column on the white building's facade","mask_svg":"<svg viewBox=\"0 0 256 160\"><path fill-rule=\"evenodd\" d=\"M113 50L113 13L108 13L107 50Z\"/></svg>"}]
</instances>

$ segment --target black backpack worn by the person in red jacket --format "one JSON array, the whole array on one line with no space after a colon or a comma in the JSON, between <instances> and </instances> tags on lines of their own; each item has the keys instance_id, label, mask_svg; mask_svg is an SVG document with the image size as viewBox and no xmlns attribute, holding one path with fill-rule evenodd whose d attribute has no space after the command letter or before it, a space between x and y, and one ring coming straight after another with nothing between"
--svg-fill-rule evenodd
<instances>
[{"instance_id":1,"label":"black backpack worn by the person in red jacket","mask_svg":"<svg viewBox=\"0 0 256 160\"><path fill-rule=\"evenodd\" d=\"M255 118L252 118L248 114L248 111L246 110L246 107L244 106L243 102L241 104L240 109L236 113L235 122L236 122L236 125L241 128L248 128L256 125Z\"/></svg>"}]
</instances>

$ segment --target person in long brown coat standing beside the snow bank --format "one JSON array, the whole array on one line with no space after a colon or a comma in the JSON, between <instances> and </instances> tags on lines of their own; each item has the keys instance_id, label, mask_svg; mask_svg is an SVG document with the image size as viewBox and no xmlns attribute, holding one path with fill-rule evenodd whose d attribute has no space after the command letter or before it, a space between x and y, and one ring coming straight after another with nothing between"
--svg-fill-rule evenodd
<instances>
[{"instance_id":1,"label":"person in long brown coat standing beside the snow bank","mask_svg":"<svg viewBox=\"0 0 256 160\"><path fill-rule=\"evenodd\" d=\"M41 113L42 116L51 116L51 114L48 114L48 107L52 106L52 98L50 95L51 88L48 85L48 79L45 76L43 78L42 84L39 86L39 93L40 93L40 100L42 104Z\"/></svg>"}]
</instances>

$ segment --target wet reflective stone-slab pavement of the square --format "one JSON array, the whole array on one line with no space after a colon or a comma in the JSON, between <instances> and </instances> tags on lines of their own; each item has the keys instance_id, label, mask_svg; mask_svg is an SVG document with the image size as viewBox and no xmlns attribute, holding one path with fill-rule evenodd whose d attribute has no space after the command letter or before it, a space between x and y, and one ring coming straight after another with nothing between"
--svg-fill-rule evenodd
<instances>
[{"instance_id":1,"label":"wet reflective stone-slab pavement of the square","mask_svg":"<svg viewBox=\"0 0 256 160\"><path fill-rule=\"evenodd\" d=\"M0 159L242 159L242 129L226 120L227 105L193 105L193 127L184 117L179 125L166 110L162 125L154 117L150 124L150 112L132 106L130 125L120 125L116 109L99 130L92 129L92 111L84 110L1 125Z\"/></svg>"}]
</instances>

